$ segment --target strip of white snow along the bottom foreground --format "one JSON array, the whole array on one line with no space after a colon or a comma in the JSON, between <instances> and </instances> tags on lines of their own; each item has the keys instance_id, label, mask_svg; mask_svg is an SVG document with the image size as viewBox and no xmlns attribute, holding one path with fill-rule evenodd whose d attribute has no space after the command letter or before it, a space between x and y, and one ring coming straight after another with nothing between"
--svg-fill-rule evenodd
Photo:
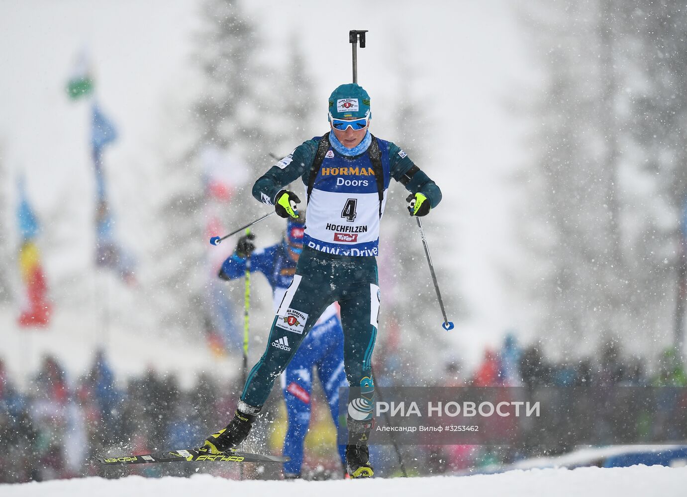
<instances>
[{"instance_id":1,"label":"strip of white snow along the bottom foreground","mask_svg":"<svg viewBox=\"0 0 687 497\"><path fill-rule=\"evenodd\" d=\"M350 497L364 494L385 496L684 496L687 467L664 466L581 467L576 470L548 469L510 471L475 476L433 478L376 478L367 481L232 481L209 475L192 478L143 478L120 480L80 478L21 485L0 485L0 495L99 496L122 495L275 495L279 497Z\"/></svg>"}]
</instances>

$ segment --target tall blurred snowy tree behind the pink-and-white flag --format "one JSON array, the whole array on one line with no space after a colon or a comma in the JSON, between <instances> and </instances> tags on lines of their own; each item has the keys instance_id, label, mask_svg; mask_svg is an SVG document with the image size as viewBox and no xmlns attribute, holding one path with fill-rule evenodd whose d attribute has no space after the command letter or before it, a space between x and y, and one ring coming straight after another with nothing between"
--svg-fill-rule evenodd
<instances>
[{"instance_id":1,"label":"tall blurred snowy tree behind the pink-and-white flag","mask_svg":"<svg viewBox=\"0 0 687 497\"><path fill-rule=\"evenodd\" d=\"M207 0L201 16L194 52L201 86L188 113L190 136L170 157L161 179L165 201L159 207L159 220L165 238L156 256L163 321L196 332L203 330L206 319L207 220L201 155L213 146L254 159L263 139L260 100L252 84L260 76L254 26L235 1Z\"/></svg>"}]
</instances>

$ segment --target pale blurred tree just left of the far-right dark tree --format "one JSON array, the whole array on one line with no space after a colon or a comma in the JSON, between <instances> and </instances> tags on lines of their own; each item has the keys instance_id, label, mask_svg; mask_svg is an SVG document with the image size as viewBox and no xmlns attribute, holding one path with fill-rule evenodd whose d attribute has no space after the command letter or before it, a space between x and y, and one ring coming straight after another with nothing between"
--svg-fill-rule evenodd
<instances>
[{"instance_id":1,"label":"pale blurred tree just left of the far-right dark tree","mask_svg":"<svg viewBox=\"0 0 687 497\"><path fill-rule=\"evenodd\" d=\"M539 9L541 8L541 9ZM535 257L523 274L537 330L553 349L588 352L613 327L618 292L616 129L607 99L612 68L598 3L538 5L535 30L548 82L537 102L537 157L526 172L521 232ZM587 36L581 36L581 33ZM605 47L609 49L609 47Z\"/></svg>"}]
</instances>

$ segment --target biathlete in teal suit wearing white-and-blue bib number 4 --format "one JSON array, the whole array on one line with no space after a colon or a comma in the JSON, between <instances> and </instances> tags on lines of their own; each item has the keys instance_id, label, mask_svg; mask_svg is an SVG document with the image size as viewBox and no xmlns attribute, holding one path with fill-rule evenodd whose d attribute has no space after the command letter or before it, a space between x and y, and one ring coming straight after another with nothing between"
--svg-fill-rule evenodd
<instances>
[{"instance_id":1,"label":"biathlete in teal suit wearing white-and-blue bib number 4","mask_svg":"<svg viewBox=\"0 0 687 497\"><path fill-rule=\"evenodd\" d=\"M279 216L297 218L300 198L284 187L302 179L308 205L304 248L234 419L207 437L201 449L224 452L247 437L274 380L320 314L338 301L346 378L361 392L349 400L346 446L348 473L358 478L373 473L368 454L374 404L371 365L381 303L376 255L387 189L394 178L409 190L411 216L426 216L440 202L441 191L401 148L370 133L370 96L361 86L337 87L329 97L328 117L330 132L302 143L253 187L253 196L274 205Z\"/></svg>"}]
</instances>

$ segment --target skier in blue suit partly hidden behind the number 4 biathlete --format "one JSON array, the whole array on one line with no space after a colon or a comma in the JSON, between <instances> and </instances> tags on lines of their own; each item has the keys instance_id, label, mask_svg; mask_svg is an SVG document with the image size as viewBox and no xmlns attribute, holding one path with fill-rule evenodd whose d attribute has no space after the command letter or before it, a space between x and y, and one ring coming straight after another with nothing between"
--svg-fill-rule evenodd
<instances>
[{"instance_id":1,"label":"skier in blue suit partly hidden behind the number 4 biathlete","mask_svg":"<svg viewBox=\"0 0 687 497\"><path fill-rule=\"evenodd\" d=\"M219 277L236 279L260 271L272 287L274 308L278 308L286 289L293 281L296 262L303 250L303 214L298 220L289 219L282 242L255 250L255 235L245 235L238 240L236 251L222 264ZM250 262L250 264L247 264ZM289 347L289 344L284 344ZM303 463L303 445L311 417L311 392L313 366L317 368L319 381L327 396L334 424L339 430L339 388L348 386L343 370L343 330L337 307L330 305L319 317L310 333L302 341L293 360L281 377L289 428L284 439L284 478L300 478ZM345 424L342 427L345 428ZM346 446L339 445L339 456L346 473Z\"/></svg>"}]
</instances>

